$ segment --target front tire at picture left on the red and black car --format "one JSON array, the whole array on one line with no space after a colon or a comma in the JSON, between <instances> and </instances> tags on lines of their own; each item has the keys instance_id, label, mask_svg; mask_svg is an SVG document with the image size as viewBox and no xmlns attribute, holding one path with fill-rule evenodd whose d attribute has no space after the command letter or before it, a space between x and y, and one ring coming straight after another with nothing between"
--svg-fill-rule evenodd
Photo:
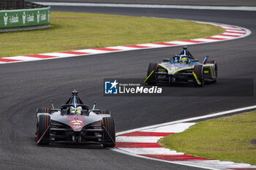
<instances>
[{"instance_id":1,"label":"front tire at picture left on the red and black car","mask_svg":"<svg viewBox=\"0 0 256 170\"><path fill-rule=\"evenodd\" d=\"M37 116L37 144L49 144L44 142L50 137L50 127L48 128L48 126L50 126L50 115Z\"/></svg>"}]
</instances>

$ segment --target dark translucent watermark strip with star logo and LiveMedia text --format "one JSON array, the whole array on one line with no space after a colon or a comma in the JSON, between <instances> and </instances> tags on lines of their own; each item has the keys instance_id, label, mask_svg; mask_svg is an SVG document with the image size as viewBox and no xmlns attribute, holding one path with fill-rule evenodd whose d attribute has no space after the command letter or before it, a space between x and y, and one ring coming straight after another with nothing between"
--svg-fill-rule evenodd
<instances>
[{"instance_id":1,"label":"dark translucent watermark strip with star logo and LiveMedia text","mask_svg":"<svg viewBox=\"0 0 256 170\"><path fill-rule=\"evenodd\" d=\"M144 79L104 79L103 96L254 96L253 79L217 79L203 87L192 83L157 83Z\"/></svg>"}]
</instances>

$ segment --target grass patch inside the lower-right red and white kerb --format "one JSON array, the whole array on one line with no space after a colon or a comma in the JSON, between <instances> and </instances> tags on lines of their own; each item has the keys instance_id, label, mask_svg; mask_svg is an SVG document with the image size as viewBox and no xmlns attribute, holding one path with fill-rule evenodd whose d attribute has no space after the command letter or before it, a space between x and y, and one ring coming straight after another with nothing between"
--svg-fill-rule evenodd
<instances>
[{"instance_id":1,"label":"grass patch inside the lower-right red and white kerb","mask_svg":"<svg viewBox=\"0 0 256 170\"><path fill-rule=\"evenodd\" d=\"M196 123L159 141L164 147L204 158L256 165L256 112Z\"/></svg>"}]
</instances>

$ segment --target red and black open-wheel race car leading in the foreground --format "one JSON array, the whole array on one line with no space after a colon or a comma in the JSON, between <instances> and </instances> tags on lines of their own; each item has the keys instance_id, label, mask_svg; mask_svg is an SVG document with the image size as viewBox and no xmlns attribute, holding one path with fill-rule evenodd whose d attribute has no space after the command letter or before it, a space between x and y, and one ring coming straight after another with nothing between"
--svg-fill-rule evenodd
<instances>
[{"instance_id":1,"label":"red and black open-wheel race car leading in the foreground","mask_svg":"<svg viewBox=\"0 0 256 170\"><path fill-rule=\"evenodd\" d=\"M106 109L89 109L78 97L76 90L60 109L37 109L37 144L71 143L102 144L114 147L116 128L113 117Z\"/></svg>"}]
</instances>

